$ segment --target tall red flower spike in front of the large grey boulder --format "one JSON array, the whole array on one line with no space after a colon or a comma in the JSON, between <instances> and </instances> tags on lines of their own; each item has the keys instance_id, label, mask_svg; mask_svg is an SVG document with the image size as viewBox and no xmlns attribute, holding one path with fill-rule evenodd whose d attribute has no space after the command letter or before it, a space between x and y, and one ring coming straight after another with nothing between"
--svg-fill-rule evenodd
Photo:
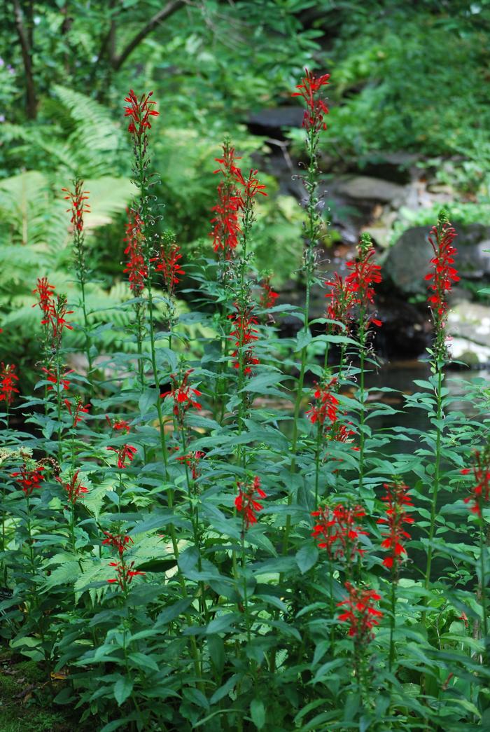
<instances>
[{"instance_id":1,"label":"tall red flower spike in front of the large grey boulder","mask_svg":"<svg viewBox=\"0 0 490 732\"><path fill-rule=\"evenodd\" d=\"M445 326L448 312L446 294L451 292L453 282L459 282L458 270L453 267L454 255L457 254L456 247L453 247L455 236L456 231L447 220L440 220L439 225L431 228L429 235L429 242L434 250L434 257L431 259L434 272L425 277L428 281L432 280L429 285L432 294L427 302L440 327Z\"/></svg>"}]
</instances>

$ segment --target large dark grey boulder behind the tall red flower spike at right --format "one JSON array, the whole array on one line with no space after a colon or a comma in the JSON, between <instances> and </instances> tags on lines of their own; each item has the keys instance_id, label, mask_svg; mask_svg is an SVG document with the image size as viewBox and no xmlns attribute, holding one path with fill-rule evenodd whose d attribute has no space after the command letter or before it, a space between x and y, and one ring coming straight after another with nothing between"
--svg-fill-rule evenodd
<instances>
[{"instance_id":1,"label":"large dark grey boulder behind the tall red flower spike at right","mask_svg":"<svg viewBox=\"0 0 490 732\"><path fill-rule=\"evenodd\" d=\"M481 224L467 226L454 224L458 234L456 268L462 277L479 280L490 276L490 228ZM434 256L429 242L429 226L414 226L404 231L388 252L382 266L402 294L425 294L424 277Z\"/></svg>"}]
</instances>

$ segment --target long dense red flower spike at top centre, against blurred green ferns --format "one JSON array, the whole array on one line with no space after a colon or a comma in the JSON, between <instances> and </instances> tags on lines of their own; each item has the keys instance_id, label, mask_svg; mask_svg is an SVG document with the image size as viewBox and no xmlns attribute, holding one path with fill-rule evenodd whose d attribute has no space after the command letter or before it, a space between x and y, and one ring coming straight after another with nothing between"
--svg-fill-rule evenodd
<instances>
[{"instance_id":1,"label":"long dense red flower spike at top centre, against blurred green ferns","mask_svg":"<svg viewBox=\"0 0 490 732\"><path fill-rule=\"evenodd\" d=\"M238 208L240 198L234 182L234 173L238 170L235 165L235 148L225 142L223 144L223 157L216 157L216 163L221 165L214 173L221 173L224 180L218 184L218 203L211 211L216 215L211 219L213 231L213 248L215 252L222 251L227 259L233 253L238 244L238 235L241 233L238 224Z\"/></svg>"}]
</instances>

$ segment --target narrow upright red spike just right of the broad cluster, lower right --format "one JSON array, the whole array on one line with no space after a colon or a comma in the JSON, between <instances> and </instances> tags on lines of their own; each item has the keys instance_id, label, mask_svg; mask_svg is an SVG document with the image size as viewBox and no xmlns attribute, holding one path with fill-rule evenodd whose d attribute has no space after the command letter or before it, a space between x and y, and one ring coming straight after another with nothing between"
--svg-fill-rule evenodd
<instances>
[{"instance_id":1,"label":"narrow upright red spike just right of the broad cluster, lower right","mask_svg":"<svg viewBox=\"0 0 490 732\"><path fill-rule=\"evenodd\" d=\"M377 523L385 524L388 529L387 532L382 533L381 536L385 537L382 541L381 546L383 549L388 549L390 554L383 559L382 563L388 569L402 561L402 554L406 554L407 550L404 548L404 539L410 539L410 534L402 529L404 523L413 523L413 518L407 514L406 508L412 506L412 499L407 495L407 486L403 482L385 483L385 496L382 497L382 501L387 504L386 507L386 518L380 518Z\"/></svg>"}]
</instances>

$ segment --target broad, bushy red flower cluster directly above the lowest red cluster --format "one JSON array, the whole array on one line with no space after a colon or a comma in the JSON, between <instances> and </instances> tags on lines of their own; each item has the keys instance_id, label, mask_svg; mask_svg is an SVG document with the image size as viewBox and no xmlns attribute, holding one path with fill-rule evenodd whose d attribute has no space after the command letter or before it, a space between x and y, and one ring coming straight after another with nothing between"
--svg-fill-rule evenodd
<instances>
[{"instance_id":1,"label":"broad, bushy red flower cluster directly above the lowest red cluster","mask_svg":"<svg viewBox=\"0 0 490 732\"><path fill-rule=\"evenodd\" d=\"M345 559L352 562L356 554L363 556L365 549L359 545L359 537L367 536L358 525L358 519L366 512L361 506L347 507L339 504L331 509L325 506L312 512L317 518L312 537L320 539L318 548L326 549L331 559Z\"/></svg>"}]
</instances>

